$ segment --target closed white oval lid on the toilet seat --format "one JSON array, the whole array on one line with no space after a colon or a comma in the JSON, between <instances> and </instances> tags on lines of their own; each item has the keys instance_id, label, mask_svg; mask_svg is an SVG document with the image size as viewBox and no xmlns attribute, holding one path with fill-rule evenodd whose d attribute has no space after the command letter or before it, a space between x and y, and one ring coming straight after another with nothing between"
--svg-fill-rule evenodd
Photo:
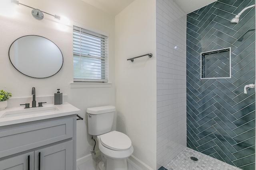
<instances>
[{"instance_id":1,"label":"closed white oval lid on the toilet seat","mask_svg":"<svg viewBox=\"0 0 256 170\"><path fill-rule=\"evenodd\" d=\"M130 138L118 131L100 135L100 143L108 149L117 151L128 150L132 146Z\"/></svg>"}]
</instances>

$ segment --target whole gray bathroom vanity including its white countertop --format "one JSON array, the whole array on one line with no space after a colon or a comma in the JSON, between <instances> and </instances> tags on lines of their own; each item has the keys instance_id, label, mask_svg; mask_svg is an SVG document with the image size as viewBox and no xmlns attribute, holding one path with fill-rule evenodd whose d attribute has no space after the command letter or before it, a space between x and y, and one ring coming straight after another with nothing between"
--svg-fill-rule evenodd
<instances>
[{"instance_id":1,"label":"whole gray bathroom vanity including its white countertop","mask_svg":"<svg viewBox=\"0 0 256 170\"><path fill-rule=\"evenodd\" d=\"M0 111L0 170L76 170L76 114L68 103Z\"/></svg>"}]
</instances>

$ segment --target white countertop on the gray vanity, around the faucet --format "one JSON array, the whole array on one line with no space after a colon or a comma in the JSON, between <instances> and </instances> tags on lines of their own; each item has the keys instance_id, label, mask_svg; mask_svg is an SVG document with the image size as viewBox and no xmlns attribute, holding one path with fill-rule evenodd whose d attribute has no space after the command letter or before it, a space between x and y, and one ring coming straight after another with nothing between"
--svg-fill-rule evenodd
<instances>
[{"instance_id":1,"label":"white countertop on the gray vanity, around the faucet","mask_svg":"<svg viewBox=\"0 0 256 170\"><path fill-rule=\"evenodd\" d=\"M15 113L18 113L18 115L8 117L8 115L15 115ZM33 107L27 109L25 109L24 106L13 107L0 110L0 127L78 113L80 113L80 109L72 106L69 103L63 103L61 105L45 104L43 107Z\"/></svg>"}]
</instances>

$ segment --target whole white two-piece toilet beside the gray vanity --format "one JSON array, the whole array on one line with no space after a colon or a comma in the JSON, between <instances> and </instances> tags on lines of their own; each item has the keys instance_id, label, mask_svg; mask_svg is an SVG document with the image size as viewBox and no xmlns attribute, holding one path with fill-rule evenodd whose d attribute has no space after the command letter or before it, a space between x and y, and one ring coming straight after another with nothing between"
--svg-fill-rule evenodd
<instances>
[{"instance_id":1,"label":"whole white two-piece toilet beside the gray vanity","mask_svg":"<svg viewBox=\"0 0 256 170\"><path fill-rule=\"evenodd\" d=\"M111 131L115 106L87 109L88 133L97 136L102 161L100 170L128 170L127 160L133 152L132 141L124 133Z\"/></svg>"}]
</instances>

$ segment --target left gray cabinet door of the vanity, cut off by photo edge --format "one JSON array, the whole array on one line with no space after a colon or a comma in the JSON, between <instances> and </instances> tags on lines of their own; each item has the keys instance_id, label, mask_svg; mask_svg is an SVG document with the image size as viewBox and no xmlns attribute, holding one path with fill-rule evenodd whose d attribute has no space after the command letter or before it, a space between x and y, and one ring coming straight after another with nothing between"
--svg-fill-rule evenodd
<instances>
[{"instance_id":1,"label":"left gray cabinet door of the vanity, cut off by photo edge","mask_svg":"<svg viewBox=\"0 0 256 170\"><path fill-rule=\"evenodd\" d=\"M34 170L34 152L1 160L0 170Z\"/></svg>"}]
</instances>

